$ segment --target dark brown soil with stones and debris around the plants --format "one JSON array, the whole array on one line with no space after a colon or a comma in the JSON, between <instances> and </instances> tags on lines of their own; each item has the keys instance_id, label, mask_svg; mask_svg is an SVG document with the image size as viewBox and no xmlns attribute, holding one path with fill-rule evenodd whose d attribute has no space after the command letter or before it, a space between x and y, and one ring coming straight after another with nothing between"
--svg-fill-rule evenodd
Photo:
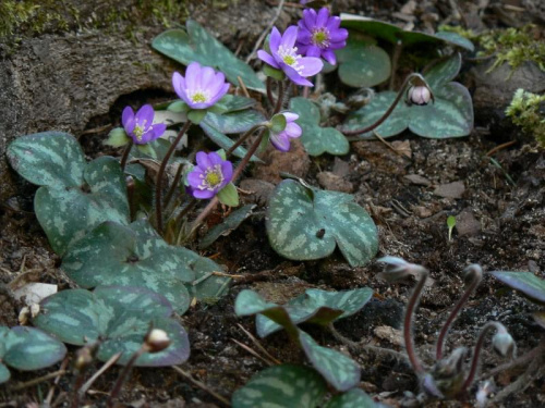
<instances>
[{"instance_id":1,"label":"dark brown soil with stones and debris around the plants","mask_svg":"<svg viewBox=\"0 0 545 408\"><path fill-rule=\"evenodd\" d=\"M252 7L249 10L254 10L255 2L250 3ZM435 13L438 16L437 21L432 20L434 27L449 18L453 13L450 3L423 1L417 9L421 10L420 14L414 14L415 28L426 29L432 24L426 15ZM366 13L396 23L400 23L400 20L396 20L392 13L399 12L402 5L397 1L336 2L338 10ZM231 14L243 13L241 4L230 7ZM266 13L263 14L263 20L244 34L242 54L251 51L252 41L272 18L275 4L267 3L264 7ZM281 14L278 26L283 27L298 13L298 9L287 10ZM459 12L465 13L467 25L506 26L504 20L507 17L494 10L493 7L485 7L477 13L468 2L463 3ZM532 15L538 15L532 14L530 9L522 10L525 11L517 14L520 21L530 21ZM231 49L237 48L240 38L230 38L228 32L217 30L221 24L214 23L214 20L206 21L206 16L213 15L213 12L206 14L205 9L198 7L194 11L198 20L204 20L205 25L210 24ZM221 18L221 15L217 18ZM298 175L305 177L310 184L354 194L355 201L370 212L378 227L377 258L385 255L402 257L429 269L431 281L422 296L414 330L419 353L428 364L432 363L432 348L441 322L463 290L462 271L467 265L479 263L485 272L531 271L545 277L544 150L537 148L530 136L521 134L505 120L502 109L507 99L502 101L504 107L499 107L501 109L491 106L493 102L489 96L483 91L491 84L480 79L481 77L467 70L458 79L469 86L475 98L475 128L469 137L435 140L405 132L389 139L391 146L379 140L352 143L350 153L340 158L310 158L300 146L295 146L289 153L291 156L287 156L283 161L276 160L278 153L268 152L265 157L266 164L261 169L255 168L252 175L249 174L251 181L245 183L250 187L243 187L254 191L246 200L255 201L259 206L258 210L228 237L218 239L202 252L226 264L230 273L243 275L244 279L235 280L229 294L217 304L198 304L180 318L190 333L192 345L192 356L182 367L183 370L206 384L207 390L229 399L233 391L267 367L234 342L254 347L242 330L243 327L255 335L254 319L239 319L233 311L234 299L244 288L253 288L271 301L283 302L308 287L341 290L370 286L375 290L374 298L359 313L339 321L336 324L338 332L362 345L403 353L399 335L404 305L411 293L410 284L392 285L382 281L377 275L384 264L376 261L364 268L351 268L338 252L319 261L288 261L268 245L265 209L270 184L263 181L277 183L278 172L293 172L294 162L299 164ZM512 84L509 88L512 88ZM106 113L98 110L80 129L80 140L88 157L104 153L101 140L108 131L100 128L117 124L121 109L126 103L172 98L165 86L133 90L121 99L110 98L109 110ZM483 97L479 98L479 95ZM48 128L39 128L46 129ZM510 140L514 144L492 151ZM59 289L74 287L60 271L60 259L51 251L34 217L35 188L12 173L10 177L15 180L14 187L12 185L11 188L16 193L8 197L0 208L1 282L8 284L20 279L55 283L59 285ZM218 210L216 215L216 219L222 217L221 211ZM446 223L448 215L457 219L450 239ZM0 294L0 323L16 325L22 305L12 299L9 290L3 292ZM471 347L480 327L489 320L497 320L508 327L517 342L518 354L523 355L536 346L544 335L543 329L530 316L536 307L533 304L485 274L484 282L452 326L448 348ZM405 360L388 353L358 353L328 332L316 327L305 329L320 344L340 349L361 363L361 386L377 400L399 406L404 392L417 393L416 379ZM292 347L281 332L259 342L282 362L304 363L302 353ZM75 348L71 348L71 351L75 351ZM74 354L70 353L70 360L73 357ZM505 361L486 347L481 371L487 372L502 362ZM99 367L96 363L88 372L93 373ZM25 382L53 370L56 369L13 372L11 384ZM87 394L86 403L104 406L105 396L111 390L118 373L119 370L114 368L99 378ZM516 370L505 371L496 375L496 385L501 390L514 382L520 374ZM533 381L525 384L525 390L512 393L494 406L545 405L543 374L542 370ZM74 374L70 371L59 378L52 406L68 406L73 382ZM7 407L38 406L52 386L51 380L23 391L13 391L8 385L0 388L0 400ZM121 401L129 407L222 406L208 391L201 390L170 368L135 369L124 387ZM444 401L426 406L471 406L469 404Z\"/></svg>"}]
</instances>

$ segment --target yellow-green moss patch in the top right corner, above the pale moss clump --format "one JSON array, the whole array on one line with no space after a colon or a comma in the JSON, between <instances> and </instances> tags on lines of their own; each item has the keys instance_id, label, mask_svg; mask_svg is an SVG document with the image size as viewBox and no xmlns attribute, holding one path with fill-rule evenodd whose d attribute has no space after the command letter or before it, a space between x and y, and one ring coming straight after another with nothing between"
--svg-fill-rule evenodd
<instances>
[{"instance_id":1,"label":"yellow-green moss patch in the top right corner, above the pale moss clump","mask_svg":"<svg viewBox=\"0 0 545 408\"><path fill-rule=\"evenodd\" d=\"M525 61L533 61L545 71L545 42L534 38L535 26L492 30L479 36L484 55L495 55L491 71L507 62L517 70Z\"/></svg>"}]
</instances>

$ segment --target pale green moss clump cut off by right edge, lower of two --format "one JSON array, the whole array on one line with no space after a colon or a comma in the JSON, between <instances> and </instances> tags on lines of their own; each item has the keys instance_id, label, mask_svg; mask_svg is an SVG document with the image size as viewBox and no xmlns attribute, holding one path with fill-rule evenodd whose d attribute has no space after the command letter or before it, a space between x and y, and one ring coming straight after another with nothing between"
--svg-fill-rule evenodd
<instances>
[{"instance_id":1,"label":"pale green moss clump cut off by right edge, lower of two","mask_svg":"<svg viewBox=\"0 0 545 408\"><path fill-rule=\"evenodd\" d=\"M531 134L545 148L545 95L535 95L524 89L517 89L511 103L506 109L507 116L520 126L523 132Z\"/></svg>"}]
</instances>

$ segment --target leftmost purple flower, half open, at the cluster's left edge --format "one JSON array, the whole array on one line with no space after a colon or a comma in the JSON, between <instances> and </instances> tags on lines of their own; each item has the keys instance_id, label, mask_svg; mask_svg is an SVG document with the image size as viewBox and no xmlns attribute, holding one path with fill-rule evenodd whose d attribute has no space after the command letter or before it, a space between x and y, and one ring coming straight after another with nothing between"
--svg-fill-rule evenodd
<instances>
[{"instance_id":1,"label":"leftmost purple flower, half open, at the cluster's left edge","mask_svg":"<svg viewBox=\"0 0 545 408\"><path fill-rule=\"evenodd\" d=\"M121 123L125 133L132 137L136 145L145 145L159 138L167 125L164 123L154 123L154 108L150 104L144 104L136 114L131 107L125 107L121 114Z\"/></svg>"}]
</instances>

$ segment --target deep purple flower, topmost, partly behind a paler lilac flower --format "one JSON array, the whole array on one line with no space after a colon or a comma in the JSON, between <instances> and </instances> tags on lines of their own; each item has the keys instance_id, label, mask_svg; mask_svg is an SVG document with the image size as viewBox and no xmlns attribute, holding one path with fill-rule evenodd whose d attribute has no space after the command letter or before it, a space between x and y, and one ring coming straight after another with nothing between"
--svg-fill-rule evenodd
<instances>
[{"instance_id":1,"label":"deep purple flower, topmost, partly behind a paler lilac flower","mask_svg":"<svg viewBox=\"0 0 545 408\"><path fill-rule=\"evenodd\" d=\"M329 16L327 8L317 13L314 9L303 10L303 18L299 21L299 52L306 57L322 57L331 65L337 63L334 50L347 45L348 30L340 27L340 17Z\"/></svg>"}]
</instances>

